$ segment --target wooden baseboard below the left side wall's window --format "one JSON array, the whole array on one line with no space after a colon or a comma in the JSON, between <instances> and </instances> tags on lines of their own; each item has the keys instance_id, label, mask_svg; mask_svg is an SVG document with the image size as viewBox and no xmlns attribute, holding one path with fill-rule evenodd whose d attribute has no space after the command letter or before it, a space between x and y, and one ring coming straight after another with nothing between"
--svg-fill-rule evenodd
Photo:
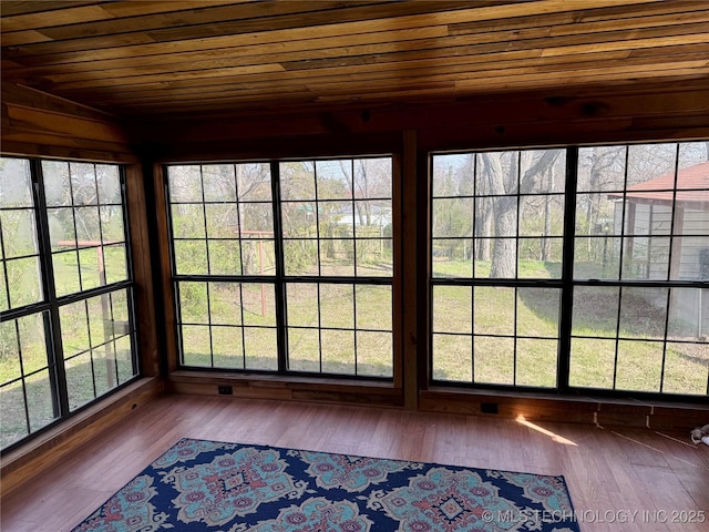
<instances>
[{"instance_id":1,"label":"wooden baseboard below the left side wall's window","mask_svg":"<svg viewBox=\"0 0 709 532\"><path fill-rule=\"evenodd\" d=\"M39 434L2 457L1 491L16 488L51 467L63 456L155 399L163 390L158 377L146 377L97 401L66 421Z\"/></svg>"}]
</instances>

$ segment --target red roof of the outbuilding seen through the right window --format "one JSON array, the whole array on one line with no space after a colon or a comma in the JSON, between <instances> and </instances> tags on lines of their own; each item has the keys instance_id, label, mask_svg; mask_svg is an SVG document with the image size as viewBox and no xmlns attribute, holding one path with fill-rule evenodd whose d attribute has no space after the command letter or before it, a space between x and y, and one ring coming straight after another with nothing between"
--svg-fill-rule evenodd
<instances>
[{"instance_id":1,"label":"red roof of the outbuilding seen through the right window","mask_svg":"<svg viewBox=\"0 0 709 532\"><path fill-rule=\"evenodd\" d=\"M674 195L675 173L661 175L650 181L628 186L625 197L633 203L677 203L685 206L709 209L709 161L680 170L677 173L677 196ZM623 193L608 194L610 197L623 197ZM703 204L703 205L702 205Z\"/></svg>"}]
</instances>

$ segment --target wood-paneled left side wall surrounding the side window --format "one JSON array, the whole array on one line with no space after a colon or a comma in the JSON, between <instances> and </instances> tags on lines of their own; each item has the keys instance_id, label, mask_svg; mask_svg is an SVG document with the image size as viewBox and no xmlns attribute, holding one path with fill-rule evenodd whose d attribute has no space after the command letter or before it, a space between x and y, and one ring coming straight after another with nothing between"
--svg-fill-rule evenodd
<instances>
[{"instance_id":1,"label":"wood-paneled left side wall surrounding the side window","mask_svg":"<svg viewBox=\"0 0 709 532\"><path fill-rule=\"evenodd\" d=\"M42 432L2 457L2 491L7 493L66 452L95 437L154 399L164 383L160 357L151 266L151 238L145 183L140 158L125 129L114 119L53 96L2 84L3 155L123 163L137 320L140 364L144 378L100 400L69 420Z\"/></svg>"}]
</instances>

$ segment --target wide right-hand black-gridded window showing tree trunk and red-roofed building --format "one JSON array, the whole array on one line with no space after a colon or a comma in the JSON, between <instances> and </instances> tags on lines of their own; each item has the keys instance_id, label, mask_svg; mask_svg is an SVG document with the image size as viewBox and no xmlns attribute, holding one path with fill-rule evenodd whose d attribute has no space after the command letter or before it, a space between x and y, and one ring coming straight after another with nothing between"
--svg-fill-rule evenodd
<instances>
[{"instance_id":1,"label":"wide right-hand black-gridded window showing tree trunk and red-roofed building","mask_svg":"<svg viewBox=\"0 0 709 532\"><path fill-rule=\"evenodd\" d=\"M708 150L434 154L432 379L706 395Z\"/></svg>"}]
</instances>

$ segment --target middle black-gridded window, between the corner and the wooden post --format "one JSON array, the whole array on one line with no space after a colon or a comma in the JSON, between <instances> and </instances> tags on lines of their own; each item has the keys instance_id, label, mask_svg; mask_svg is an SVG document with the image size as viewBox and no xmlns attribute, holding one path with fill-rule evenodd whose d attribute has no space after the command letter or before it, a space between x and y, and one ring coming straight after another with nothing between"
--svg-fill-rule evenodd
<instances>
[{"instance_id":1,"label":"middle black-gridded window, between the corner and the wooden post","mask_svg":"<svg viewBox=\"0 0 709 532\"><path fill-rule=\"evenodd\" d=\"M393 376L390 157L167 167L181 362Z\"/></svg>"}]
</instances>

